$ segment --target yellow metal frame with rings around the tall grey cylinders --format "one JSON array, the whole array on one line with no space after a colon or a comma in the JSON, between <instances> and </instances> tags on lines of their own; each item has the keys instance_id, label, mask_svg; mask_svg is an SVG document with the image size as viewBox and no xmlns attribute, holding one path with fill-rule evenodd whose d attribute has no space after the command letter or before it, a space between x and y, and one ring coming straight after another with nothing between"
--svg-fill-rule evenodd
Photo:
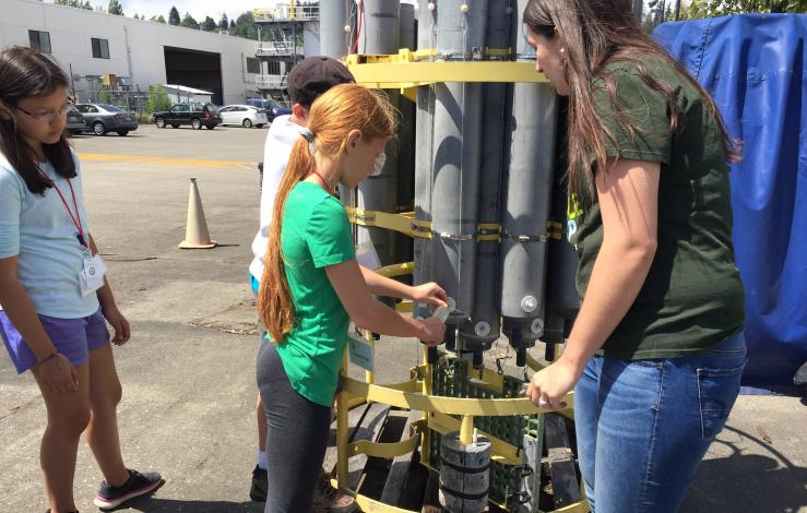
<instances>
[{"instance_id":1,"label":"yellow metal frame with rings around the tall grey cylinders","mask_svg":"<svg viewBox=\"0 0 807 513\"><path fill-rule=\"evenodd\" d=\"M508 58L511 49L486 48L487 57ZM402 94L416 100L416 87L444 82L474 82L474 83L546 83L546 75L537 73L532 62L515 61L455 61L441 60L434 49L411 51L402 49L392 56L347 56L345 63L356 77L356 82L367 87L383 90L401 90ZM406 80L401 80L405 77ZM413 212L390 214L385 212L346 208L352 224L390 229L413 238L432 238L431 223L414 218ZM501 225L487 223L477 226L478 241L501 241ZM547 225L547 238L560 239L562 225L550 222ZM388 277L411 274L415 266L413 262L388 265L378 272ZM399 306L397 310L410 310L412 303ZM369 336L369 335L368 335ZM369 339L369 338L368 338ZM370 341L375 351L375 343ZM424 361L428 360L428 347L423 346ZM471 363L467 363L470 367ZM534 370L542 366L527 355L527 365ZM477 379L486 386L501 392L503 377L490 369L468 369L470 375L477 373ZM419 379L418 379L419 378ZM423 418L412 425L412 432L406 440L395 443L373 443L366 440L348 442L347 413L355 405L364 403L381 403L403 409L423 411ZM574 406L573 393L567 394L563 399L562 415L571 416ZM412 370L410 381L396 384L375 384L375 375L367 372L365 381L347 377L347 355L342 362L342 389L336 403L336 480L337 486L356 498L359 508L365 512L411 513L379 501L356 493L348 488L347 461L352 456L365 454L375 457L391 458L410 453L416 449L419 434L422 455L427 454L429 433L437 431L447 433L460 431L460 441L468 444L473 438L473 420L476 416L521 416L546 413L537 408L527 398L477 399L460 397L442 397L431 395L431 367L423 365ZM459 416L460 419L452 416ZM523 454L519 448L483 433L490 440L491 460L505 465L521 465ZM429 466L428 461L422 464ZM555 510L555 513L583 513L589 510L585 500L569 506Z\"/></svg>"}]
</instances>

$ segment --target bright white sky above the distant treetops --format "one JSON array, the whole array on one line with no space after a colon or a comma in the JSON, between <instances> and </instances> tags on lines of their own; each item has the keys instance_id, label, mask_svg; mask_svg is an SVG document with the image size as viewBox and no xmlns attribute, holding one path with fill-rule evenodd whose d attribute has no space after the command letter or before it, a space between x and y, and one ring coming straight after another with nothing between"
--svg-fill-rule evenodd
<instances>
[{"instance_id":1,"label":"bright white sky above the distant treetops","mask_svg":"<svg viewBox=\"0 0 807 513\"><path fill-rule=\"evenodd\" d=\"M406 0L404 0L406 1ZM104 10L109 5L109 0L90 0L90 3L100 5ZM162 14L168 19L168 11L175 5L179 11L179 16L185 16L186 12L190 12L198 22L210 16L216 22L222 17L222 12L227 13L227 17L235 20L241 13L259 8L274 8L277 3L288 4L288 1L281 0L120 0L123 5L123 13L127 16L134 14L145 14L145 17L152 17ZM414 3L414 0L407 1Z\"/></svg>"}]
</instances>

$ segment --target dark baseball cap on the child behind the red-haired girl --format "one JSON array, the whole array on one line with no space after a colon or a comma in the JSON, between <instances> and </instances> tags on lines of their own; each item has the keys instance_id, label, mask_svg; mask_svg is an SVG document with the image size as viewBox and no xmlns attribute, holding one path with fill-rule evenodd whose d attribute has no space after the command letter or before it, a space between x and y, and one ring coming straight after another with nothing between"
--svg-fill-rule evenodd
<instances>
[{"instance_id":1,"label":"dark baseball cap on the child behind the red-haired girl","mask_svg":"<svg viewBox=\"0 0 807 513\"><path fill-rule=\"evenodd\" d=\"M347 67L336 59L307 57L295 64L286 77L286 91L295 104L310 107L319 95L334 85L356 82Z\"/></svg>"}]
</instances>

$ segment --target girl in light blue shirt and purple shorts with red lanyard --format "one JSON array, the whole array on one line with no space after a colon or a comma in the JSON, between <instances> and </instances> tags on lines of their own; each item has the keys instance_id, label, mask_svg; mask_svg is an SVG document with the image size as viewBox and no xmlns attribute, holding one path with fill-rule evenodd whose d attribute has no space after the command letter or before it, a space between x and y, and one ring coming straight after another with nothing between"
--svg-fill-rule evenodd
<instances>
[{"instance_id":1,"label":"girl in light blue shirt and purple shorts with red lanyard","mask_svg":"<svg viewBox=\"0 0 807 513\"><path fill-rule=\"evenodd\" d=\"M82 432L104 475L97 506L116 508L163 482L128 469L120 454L121 385L106 322L117 345L129 341L129 322L90 235L79 162L64 139L67 84L36 50L0 52L0 337L45 399L40 463L51 513L78 511Z\"/></svg>"}]
</instances>

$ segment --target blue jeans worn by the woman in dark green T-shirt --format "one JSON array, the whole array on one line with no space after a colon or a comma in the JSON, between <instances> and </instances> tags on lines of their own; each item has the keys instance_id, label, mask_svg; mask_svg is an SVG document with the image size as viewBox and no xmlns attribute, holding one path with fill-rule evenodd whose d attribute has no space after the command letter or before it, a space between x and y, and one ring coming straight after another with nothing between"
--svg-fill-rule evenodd
<instances>
[{"instance_id":1,"label":"blue jeans worn by the woman in dark green T-shirt","mask_svg":"<svg viewBox=\"0 0 807 513\"><path fill-rule=\"evenodd\" d=\"M696 356L594 357L574 387L578 456L592 512L677 511L734 406L745 362L743 333Z\"/></svg>"}]
</instances>

